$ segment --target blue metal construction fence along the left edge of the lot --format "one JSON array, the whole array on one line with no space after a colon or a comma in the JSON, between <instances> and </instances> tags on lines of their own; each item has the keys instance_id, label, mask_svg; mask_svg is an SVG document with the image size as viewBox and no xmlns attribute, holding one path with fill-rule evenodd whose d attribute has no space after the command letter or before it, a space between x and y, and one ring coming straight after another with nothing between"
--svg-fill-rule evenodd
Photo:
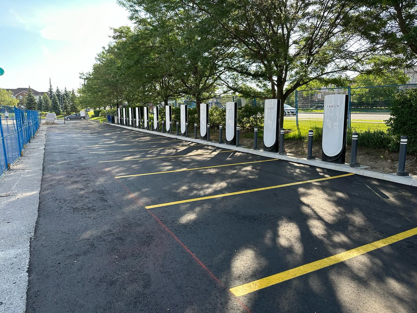
<instances>
[{"instance_id":1,"label":"blue metal construction fence along the left edge of the lot","mask_svg":"<svg viewBox=\"0 0 417 313\"><path fill-rule=\"evenodd\" d=\"M0 177L40 127L40 112L0 105Z\"/></svg>"}]
</instances>

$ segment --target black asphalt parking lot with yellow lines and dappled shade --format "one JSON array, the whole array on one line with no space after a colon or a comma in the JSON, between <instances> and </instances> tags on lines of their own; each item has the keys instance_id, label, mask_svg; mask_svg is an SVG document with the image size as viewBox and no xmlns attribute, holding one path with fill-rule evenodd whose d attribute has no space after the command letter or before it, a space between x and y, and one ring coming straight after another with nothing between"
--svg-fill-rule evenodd
<instances>
[{"instance_id":1,"label":"black asphalt parking lot with yellow lines and dappled shade","mask_svg":"<svg viewBox=\"0 0 417 313\"><path fill-rule=\"evenodd\" d=\"M417 190L48 126L27 312L412 312Z\"/></svg>"}]
</instances>

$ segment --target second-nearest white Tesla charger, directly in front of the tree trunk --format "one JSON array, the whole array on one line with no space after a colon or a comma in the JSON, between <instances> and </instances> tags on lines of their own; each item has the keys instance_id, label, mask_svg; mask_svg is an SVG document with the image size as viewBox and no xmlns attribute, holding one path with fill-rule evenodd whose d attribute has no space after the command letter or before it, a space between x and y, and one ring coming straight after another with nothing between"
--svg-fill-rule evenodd
<instances>
[{"instance_id":1,"label":"second-nearest white Tesla charger, directly in front of the tree trunk","mask_svg":"<svg viewBox=\"0 0 417 313\"><path fill-rule=\"evenodd\" d=\"M264 106L264 150L279 152L281 99L266 99Z\"/></svg>"}]
</instances>

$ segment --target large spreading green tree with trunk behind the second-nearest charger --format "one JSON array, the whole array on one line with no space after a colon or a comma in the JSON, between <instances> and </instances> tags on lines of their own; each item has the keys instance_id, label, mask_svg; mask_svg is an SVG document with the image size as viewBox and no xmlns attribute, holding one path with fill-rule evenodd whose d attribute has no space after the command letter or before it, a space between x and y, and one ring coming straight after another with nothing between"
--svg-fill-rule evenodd
<instances>
[{"instance_id":1,"label":"large spreading green tree with trunk behind the second-nearest charger","mask_svg":"<svg viewBox=\"0 0 417 313\"><path fill-rule=\"evenodd\" d=\"M379 49L352 32L356 12L349 1L268 1L256 10L251 0L194 0L192 6L211 33L224 38L217 48L231 50L223 62L227 86L241 94L244 84L266 90L268 98L281 99L282 115L296 88L372 71L367 61ZM281 116L280 127L283 122Z\"/></svg>"}]
</instances>

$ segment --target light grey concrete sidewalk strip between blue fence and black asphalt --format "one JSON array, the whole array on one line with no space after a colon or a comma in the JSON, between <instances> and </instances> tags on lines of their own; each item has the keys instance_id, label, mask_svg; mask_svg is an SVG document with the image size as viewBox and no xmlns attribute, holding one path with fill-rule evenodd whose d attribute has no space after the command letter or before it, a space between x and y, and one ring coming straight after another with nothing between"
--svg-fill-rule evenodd
<instances>
[{"instance_id":1,"label":"light grey concrete sidewalk strip between blue fence and black asphalt","mask_svg":"<svg viewBox=\"0 0 417 313\"><path fill-rule=\"evenodd\" d=\"M29 244L38 217L47 126L0 178L0 312L25 312Z\"/></svg>"}]
</instances>

